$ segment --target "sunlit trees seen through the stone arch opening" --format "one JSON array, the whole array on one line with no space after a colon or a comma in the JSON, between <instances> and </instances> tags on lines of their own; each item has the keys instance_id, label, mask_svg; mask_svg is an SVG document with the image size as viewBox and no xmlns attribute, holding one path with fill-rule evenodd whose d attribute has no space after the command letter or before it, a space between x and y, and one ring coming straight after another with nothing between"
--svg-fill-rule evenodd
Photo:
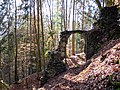
<instances>
[{"instance_id":1,"label":"sunlit trees seen through the stone arch opening","mask_svg":"<svg viewBox=\"0 0 120 90\"><path fill-rule=\"evenodd\" d=\"M74 35L74 41L72 41L73 35ZM74 52L72 51L72 48L74 48ZM67 56L70 57L71 55L85 53L84 51L85 51L85 39L83 35L80 33L71 34L70 37L68 38L66 45Z\"/></svg>"}]
</instances>

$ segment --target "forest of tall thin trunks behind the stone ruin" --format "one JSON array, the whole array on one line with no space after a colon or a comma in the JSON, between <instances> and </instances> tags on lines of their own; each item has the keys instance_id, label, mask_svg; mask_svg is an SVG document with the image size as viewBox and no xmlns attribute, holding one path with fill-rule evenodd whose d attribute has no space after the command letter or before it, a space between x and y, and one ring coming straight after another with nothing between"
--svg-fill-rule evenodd
<instances>
[{"instance_id":1,"label":"forest of tall thin trunks behind the stone ruin","mask_svg":"<svg viewBox=\"0 0 120 90\"><path fill-rule=\"evenodd\" d=\"M55 50L60 32L91 30L104 6L119 0L1 0L0 81L11 85L45 69L48 53ZM67 56L84 52L85 41L72 35Z\"/></svg>"}]
</instances>

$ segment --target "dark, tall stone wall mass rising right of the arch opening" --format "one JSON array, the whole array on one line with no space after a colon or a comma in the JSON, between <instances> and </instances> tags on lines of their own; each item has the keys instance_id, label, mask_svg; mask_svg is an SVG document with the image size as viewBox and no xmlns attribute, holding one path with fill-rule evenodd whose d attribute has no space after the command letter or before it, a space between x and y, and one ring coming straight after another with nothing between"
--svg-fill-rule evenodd
<instances>
[{"instance_id":1,"label":"dark, tall stone wall mass rising right of the arch opening","mask_svg":"<svg viewBox=\"0 0 120 90\"><path fill-rule=\"evenodd\" d=\"M87 59L96 54L102 45L120 38L119 13L117 6L105 7L100 11L97 29L87 33Z\"/></svg>"}]
</instances>

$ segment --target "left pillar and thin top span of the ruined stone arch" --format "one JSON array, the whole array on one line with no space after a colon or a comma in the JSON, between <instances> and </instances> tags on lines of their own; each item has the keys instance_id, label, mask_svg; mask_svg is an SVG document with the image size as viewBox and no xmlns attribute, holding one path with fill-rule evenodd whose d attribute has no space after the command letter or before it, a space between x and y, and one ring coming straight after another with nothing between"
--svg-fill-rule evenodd
<instances>
[{"instance_id":1,"label":"left pillar and thin top span of the ruined stone arch","mask_svg":"<svg viewBox=\"0 0 120 90\"><path fill-rule=\"evenodd\" d=\"M66 64L63 62L66 57L66 45L70 35L75 33L86 33L87 31L75 30L75 31L63 31L60 34L60 41L58 48L49 53L49 62L46 66L43 77L41 78L41 85L44 85L50 77L58 75L67 70Z\"/></svg>"}]
</instances>

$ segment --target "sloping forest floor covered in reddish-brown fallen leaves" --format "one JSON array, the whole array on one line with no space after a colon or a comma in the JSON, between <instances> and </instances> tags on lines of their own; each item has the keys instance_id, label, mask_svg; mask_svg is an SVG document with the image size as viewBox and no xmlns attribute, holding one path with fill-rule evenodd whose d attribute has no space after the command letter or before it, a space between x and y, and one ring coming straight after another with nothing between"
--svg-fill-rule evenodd
<instances>
[{"instance_id":1,"label":"sloping forest floor covered in reddish-brown fallen leaves","mask_svg":"<svg viewBox=\"0 0 120 90\"><path fill-rule=\"evenodd\" d=\"M37 74L33 74L11 85L10 90L120 90L120 39L104 44L85 64L71 67L41 88Z\"/></svg>"}]
</instances>

